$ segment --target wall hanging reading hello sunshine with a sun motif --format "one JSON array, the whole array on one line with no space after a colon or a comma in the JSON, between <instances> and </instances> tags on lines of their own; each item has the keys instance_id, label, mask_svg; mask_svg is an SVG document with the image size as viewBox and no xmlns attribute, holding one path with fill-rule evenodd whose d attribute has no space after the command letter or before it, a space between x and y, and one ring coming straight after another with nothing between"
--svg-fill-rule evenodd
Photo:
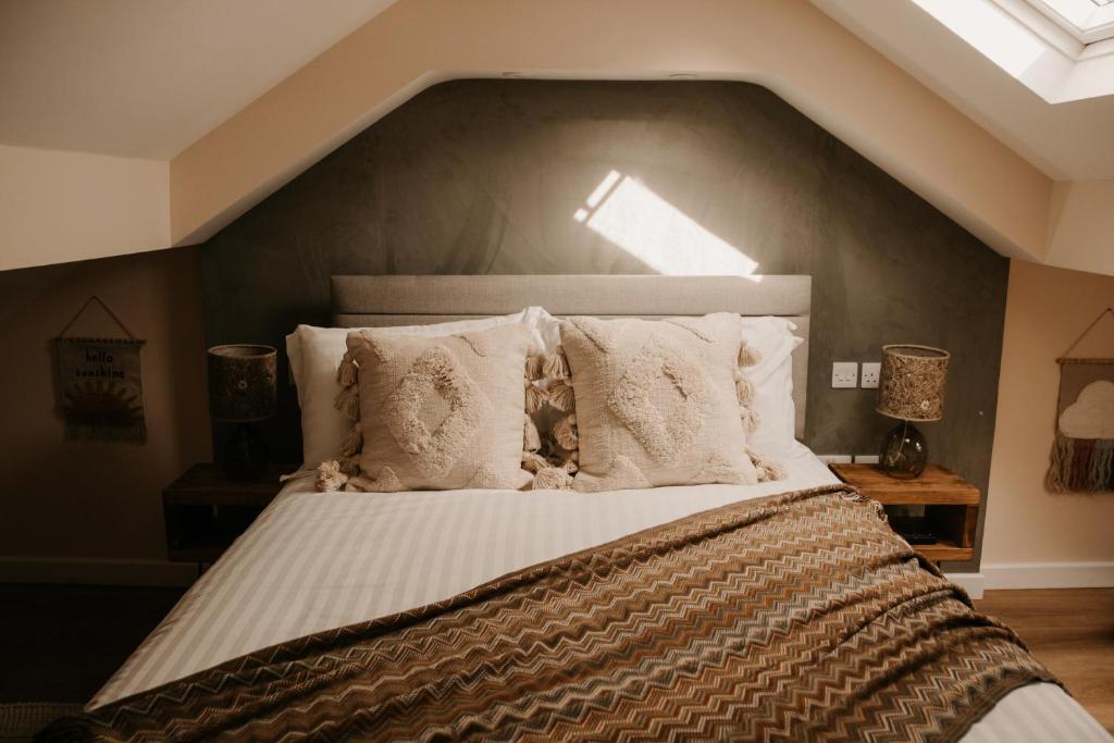
<instances>
[{"instance_id":1,"label":"wall hanging reading hello sunshine with a sun motif","mask_svg":"<svg viewBox=\"0 0 1114 743\"><path fill-rule=\"evenodd\" d=\"M70 338L74 323L96 302L127 338ZM99 296L90 296L53 340L58 407L68 439L147 440L139 351L131 334Z\"/></svg>"}]
</instances>

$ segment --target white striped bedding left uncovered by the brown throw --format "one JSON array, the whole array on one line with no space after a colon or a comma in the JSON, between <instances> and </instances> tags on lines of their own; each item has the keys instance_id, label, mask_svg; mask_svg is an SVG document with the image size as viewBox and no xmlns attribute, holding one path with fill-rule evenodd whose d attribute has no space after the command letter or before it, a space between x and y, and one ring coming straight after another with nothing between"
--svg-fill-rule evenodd
<instances>
[{"instance_id":1,"label":"white striped bedding left uncovered by the brown throw","mask_svg":"<svg viewBox=\"0 0 1114 743\"><path fill-rule=\"evenodd\" d=\"M607 493L311 491L293 480L178 602L88 708L262 647L459 594L543 560L729 502L836 481L798 444L789 478ZM1022 723L1020 721L1025 721ZM1009 694L974 743L1114 741L1058 687ZM1064 736L1072 731L1073 736ZM1077 733L1077 734L1076 734Z\"/></svg>"}]
</instances>

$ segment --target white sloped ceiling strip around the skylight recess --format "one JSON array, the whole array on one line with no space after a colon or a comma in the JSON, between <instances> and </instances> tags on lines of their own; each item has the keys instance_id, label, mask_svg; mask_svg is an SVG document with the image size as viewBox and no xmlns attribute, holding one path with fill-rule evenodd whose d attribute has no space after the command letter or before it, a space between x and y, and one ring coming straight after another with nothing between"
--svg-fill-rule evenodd
<instances>
[{"instance_id":1,"label":"white sloped ceiling strip around the skylight recess","mask_svg":"<svg viewBox=\"0 0 1114 743\"><path fill-rule=\"evenodd\" d=\"M1114 96L1048 104L910 0L812 2L1052 178L1114 178Z\"/></svg>"}]
</instances>

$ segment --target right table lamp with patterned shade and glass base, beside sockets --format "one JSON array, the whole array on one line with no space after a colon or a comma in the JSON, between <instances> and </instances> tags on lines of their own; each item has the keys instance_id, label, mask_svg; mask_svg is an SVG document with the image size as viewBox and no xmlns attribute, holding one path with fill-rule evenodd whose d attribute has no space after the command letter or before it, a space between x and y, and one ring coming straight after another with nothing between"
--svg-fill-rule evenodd
<instances>
[{"instance_id":1,"label":"right table lamp with patterned shade and glass base, beside sockets","mask_svg":"<svg viewBox=\"0 0 1114 743\"><path fill-rule=\"evenodd\" d=\"M882 346L878 412L901 422L882 439L878 466L890 477L909 479L925 471L928 442L912 421L944 417L944 391L951 354L928 345Z\"/></svg>"}]
</instances>

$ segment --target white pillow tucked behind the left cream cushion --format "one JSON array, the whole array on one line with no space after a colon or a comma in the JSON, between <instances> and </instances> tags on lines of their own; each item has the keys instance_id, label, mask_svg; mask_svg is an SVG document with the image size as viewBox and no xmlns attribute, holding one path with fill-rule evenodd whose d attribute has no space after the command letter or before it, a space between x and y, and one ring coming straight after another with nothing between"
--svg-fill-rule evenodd
<instances>
[{"instance_id":1,"label":"white pillow tucked behind the left cream cushion","mask_svg":"<svg viewBox=\"0 0 1114 743\"><path fill-rule=\"evenodd\" d=\"M432 325L383 327L389 333L438 338L456 335L498 325L524 323L530 327L539 350L551 352L559 339L559 323L541 307L528 307L509 315L458 320ZM348 334L355 327L315 327L299 325L286 336L286 355L297 387L297 404L302 409L303 468L314 468L335 459L341 440L352 428L352 421L333 407L340 391L336 369L348 350ZM551 345L550 345L551 344Z\"/></svg>"}]
</instances>

